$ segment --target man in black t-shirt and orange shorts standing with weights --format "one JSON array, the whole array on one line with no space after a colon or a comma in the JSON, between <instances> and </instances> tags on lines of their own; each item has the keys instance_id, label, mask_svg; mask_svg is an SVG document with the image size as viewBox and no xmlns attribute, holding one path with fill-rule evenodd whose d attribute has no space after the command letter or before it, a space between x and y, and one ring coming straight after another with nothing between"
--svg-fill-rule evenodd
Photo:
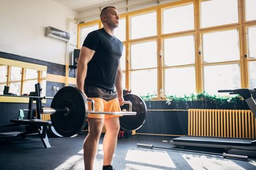
<instances>
[{"instance_id":1,"label":"man in black t-shirt and orange shorts standing with weights","mask_svg":"<svg viewBox=\"0 0 256 170\"><path fill-rule=\"evenodd\" d=\"M81 48L76 84L89 99L94 99L94 110L119 112L124 104L120 57L123 45L114 34L119 25L119 12L113 6L104 7L100 13L102 29L89 33ZM115 91L116 90L116 91ZM103 169L111 166L119 133L119 116L88 115L89 133L83 143L86 170L92 170L103 126Z\"/></svg>"}]
</instances>

